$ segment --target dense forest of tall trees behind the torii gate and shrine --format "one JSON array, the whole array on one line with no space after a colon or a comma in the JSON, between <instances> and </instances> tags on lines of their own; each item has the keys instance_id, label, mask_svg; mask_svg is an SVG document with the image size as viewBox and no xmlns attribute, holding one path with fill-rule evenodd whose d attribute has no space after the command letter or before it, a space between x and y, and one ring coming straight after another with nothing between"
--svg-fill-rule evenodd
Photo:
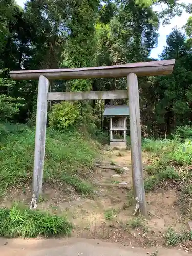
<instances>
[{"instance_id":1,"label":"dense forest of tall trees behind the torii gate and shrine","mask_svg":"<svg viewBox=\"0 0 192 256\"><path fill-rule=\"evenodd\" d=\"M166 8L157 13L153 6ZM0 1L0 121L34 125L38 81L12 81L9 70L117 65L152 61L158 26L192 4L174 0L31 0L24 9ZM166 137L192 121L192 16L167 36L160 59L176 59L172 75L139 78L142 134ZM50 91L125 89L125 79L59 80ZM107 129L108 101L49 103L49 125ZM114 101L125 103L125 101Z\"/></svg>"}]
</instances>

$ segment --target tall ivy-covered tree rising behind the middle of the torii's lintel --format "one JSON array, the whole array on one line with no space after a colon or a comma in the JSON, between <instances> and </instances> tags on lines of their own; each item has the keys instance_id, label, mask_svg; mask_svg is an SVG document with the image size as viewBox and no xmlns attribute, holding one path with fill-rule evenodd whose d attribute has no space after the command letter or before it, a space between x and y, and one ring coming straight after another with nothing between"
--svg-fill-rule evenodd
<instances>
[{"instance_id":1,"label":"tall ivy-covered tree rising behind the middle of the torii's lintel","mask_svg":"<svg viewBox=\"0 0 192 256\"><path fill-rule=\"evenodd\" d=\"M62 67L78 68L96 65L95 23L99 11L98 0L75 0L68 23L69 36L62 53ZM71 81L71 90L90 90L91 80Z\"/></svg>"}]
</instances>

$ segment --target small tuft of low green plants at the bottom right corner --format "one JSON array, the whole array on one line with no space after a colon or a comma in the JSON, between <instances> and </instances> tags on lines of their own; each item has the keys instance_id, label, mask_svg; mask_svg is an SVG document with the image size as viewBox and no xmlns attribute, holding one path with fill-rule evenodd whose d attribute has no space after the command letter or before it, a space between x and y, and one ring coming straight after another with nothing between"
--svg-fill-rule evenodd
<instances>
[{"instance_id":1,"label":"small tuft of low green plants at the bottom right corner","mask_svg":"<svg viewBox=\"0 0 192 256\"><path fill-rule=\"evenodd\" d=\"M177 246L180 243L191 241L192 232L182 232L176 233L173 228L168 228L167 232L164 234L165 244L169 246Z\"/></svg>"}]
</instances>

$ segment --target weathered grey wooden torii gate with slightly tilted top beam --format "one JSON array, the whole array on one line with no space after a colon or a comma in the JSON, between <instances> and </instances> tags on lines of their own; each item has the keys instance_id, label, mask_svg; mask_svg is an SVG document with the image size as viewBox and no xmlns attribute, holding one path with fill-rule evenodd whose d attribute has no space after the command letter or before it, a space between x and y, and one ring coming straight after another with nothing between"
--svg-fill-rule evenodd
<instances>
[{"instance_id":1,"label":"weathered grey wooden torii gate with slightly tilted top beam","mask_svg":"<svg viewBox=\"0 0 192 256\"><path fill-rule=\"evenodd\" d=\"M137 76L168 75L172 73L174 64L175 60L173 59L90 68L10 71L11 78L15 80L39 80L33 169L33 191L37 200L39 193L42 190L46 142L47 102L49 100L97 100L128 98L130 109L132 180L134 197L138 199L141 214L147 216L142 166L139 88ZM127 77L128 92L127 90L60 93L48 92L48 79L67 80L111 77Z\"/></svg>"}]
</instances>

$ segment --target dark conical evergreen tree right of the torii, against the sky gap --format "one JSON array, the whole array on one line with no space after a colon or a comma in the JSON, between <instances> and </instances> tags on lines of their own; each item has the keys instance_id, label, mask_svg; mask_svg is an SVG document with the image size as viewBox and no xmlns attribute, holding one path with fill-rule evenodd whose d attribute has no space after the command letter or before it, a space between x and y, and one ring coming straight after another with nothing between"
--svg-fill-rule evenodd
<instances>
[{"instance_id":1,"label":"dark conical evergreen tree right of the torii, against the sky gap","mask_svg":"<svg viewBox=\"0 0 192 256\"><path fill-rule=\"evenodd\" d=\"M173 29L166 42L161 59L175 58L174 71L169 76L151 78L142 93L143 123L147 121L148 132L152 131L155 137L168 135L178 125L192 121L192 52L185 34L177 29Z\"/></svg>"}]
</instances>

